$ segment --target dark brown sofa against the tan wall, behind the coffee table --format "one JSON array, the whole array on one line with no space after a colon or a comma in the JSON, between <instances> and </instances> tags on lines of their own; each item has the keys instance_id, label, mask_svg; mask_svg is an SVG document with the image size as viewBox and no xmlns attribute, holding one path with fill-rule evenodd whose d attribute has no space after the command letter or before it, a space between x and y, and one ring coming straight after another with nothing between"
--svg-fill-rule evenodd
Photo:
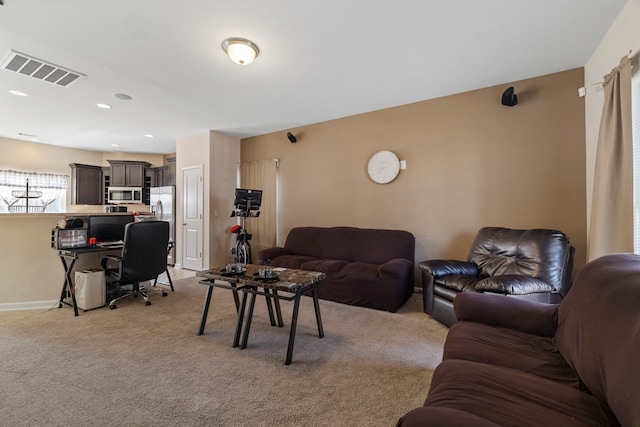
<instances>
[{"instance_id":1,"label":"dark brown sofa against the tan wall, behind the coffee table","mask_svg":"<svg viewBox=\"0 0 640 427\"><path fill-rule=\"evenodd\" d=\"M413 293L415 238L401 230L293 228L284 247L260 251L274 267L321 271L322 299L397 311Z\"/></svg>"}]
</instances>

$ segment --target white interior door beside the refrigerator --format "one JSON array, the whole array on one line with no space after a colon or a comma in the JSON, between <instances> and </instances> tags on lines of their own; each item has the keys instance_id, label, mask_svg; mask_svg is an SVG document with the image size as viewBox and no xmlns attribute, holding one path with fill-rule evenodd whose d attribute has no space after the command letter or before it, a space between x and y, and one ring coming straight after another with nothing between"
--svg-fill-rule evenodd
<instances>
[{"instance_id":1,"label":"white interior door beside the refrigerator","mask_svg":"<svg viewBox=\"0 0 640 427\"><path fill-rule=\"evenodd\" d=\"M204 186L202 166L182 169L182 267L202 270Z\"/></svg>"}]
</instances>

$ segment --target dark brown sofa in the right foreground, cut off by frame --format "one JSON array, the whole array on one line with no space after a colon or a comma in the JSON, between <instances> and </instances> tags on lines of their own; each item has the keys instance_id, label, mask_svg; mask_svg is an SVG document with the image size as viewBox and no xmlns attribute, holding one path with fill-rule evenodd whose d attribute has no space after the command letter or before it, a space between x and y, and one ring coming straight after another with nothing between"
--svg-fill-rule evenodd
<instances>
[{"instance_id":1,"label":"dark brown sofa in the right foreground, cut off by frame","mask_svg":"<svg viewBox=\"0 0 640 427\"><path fill-rule=\"evenodd\" d=\"M454 307L427 400L398 426L640 426L640 256L587 264L559 305Z\"/></svg>"}]
</instances>

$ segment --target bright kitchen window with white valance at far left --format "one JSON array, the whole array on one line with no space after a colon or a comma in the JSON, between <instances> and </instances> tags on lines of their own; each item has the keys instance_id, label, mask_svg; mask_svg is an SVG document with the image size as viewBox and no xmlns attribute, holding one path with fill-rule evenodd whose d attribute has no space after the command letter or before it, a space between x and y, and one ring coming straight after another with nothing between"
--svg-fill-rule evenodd
<instances>
[{"instance_id":1,"label":"bright kitchen window with white valance at far left","mask_svg":"<svg viewBox=\"0 0 640 427\"><path fill-rule=\"evenodd\" d=\"M64 212L69 177L0 170L0 213Z\"/></svg>"}]
</instances>

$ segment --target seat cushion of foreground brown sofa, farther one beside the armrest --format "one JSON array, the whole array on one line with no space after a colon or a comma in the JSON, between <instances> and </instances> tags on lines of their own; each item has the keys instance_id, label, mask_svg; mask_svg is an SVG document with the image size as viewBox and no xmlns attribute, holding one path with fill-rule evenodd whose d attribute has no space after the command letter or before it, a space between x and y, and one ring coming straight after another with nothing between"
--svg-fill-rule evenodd
<instances>
[{"instance_id":1,"label":"seat cushion of foreground brown sofa, farther one beside the armrest","mask_svg":"<svg viewBox=\"0 0 640 427\"><path fill-rule=\"evenodd\" d=\"M476 322L449 329L444 360L462 359L517 369L580 388L580 381L557 351L552 338Z\"/></svg>"}]
</instances>

